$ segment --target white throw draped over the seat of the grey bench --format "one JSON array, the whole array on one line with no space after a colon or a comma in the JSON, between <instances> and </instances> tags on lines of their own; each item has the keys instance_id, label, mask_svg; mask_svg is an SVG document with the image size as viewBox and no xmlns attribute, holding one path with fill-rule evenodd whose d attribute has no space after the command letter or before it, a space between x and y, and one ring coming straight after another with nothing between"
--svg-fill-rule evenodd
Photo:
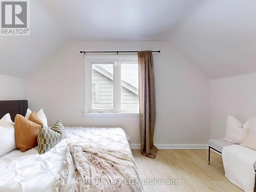
<instances>
[{"instance_id":1,"label":"white throw draped over the seat of the grey bench","mask_svg":"<svg viewBox=\"0 0 256 192\"><path fill-rule=\"evenodd\" d=\"M241 145L225 146L222 159L228 180L246 192L253 192L256 151Z\"/></svg>"}]
</instances>

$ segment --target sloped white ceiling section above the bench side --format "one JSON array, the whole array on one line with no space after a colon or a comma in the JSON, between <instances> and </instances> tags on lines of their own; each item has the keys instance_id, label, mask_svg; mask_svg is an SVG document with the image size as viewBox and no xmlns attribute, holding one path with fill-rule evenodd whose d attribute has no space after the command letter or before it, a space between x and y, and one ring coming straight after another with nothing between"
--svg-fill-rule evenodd
<instances>
[{"instance_id":1,"label":"sloped white ceiling section above the bench side","mask_svg":"<svg viewBox=\"0 0 256 192\"><path fill-rule=\"evenodd\" d=\"M205 1L169 40L210 78L256 72L256 1Z\"/></svg>"}]
</instances>

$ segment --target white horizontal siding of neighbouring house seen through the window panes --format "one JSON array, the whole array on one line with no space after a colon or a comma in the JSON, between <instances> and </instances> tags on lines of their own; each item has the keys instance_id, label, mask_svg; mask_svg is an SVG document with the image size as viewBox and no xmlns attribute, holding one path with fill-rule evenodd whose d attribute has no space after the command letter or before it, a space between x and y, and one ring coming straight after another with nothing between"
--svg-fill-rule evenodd
<instances>
[{"instance_id":1,"label":"white horizontal siding of neighbouring house seen through the window panes","mask_svg":"<svg viewBox=\"0 0 256 192\"><path fill-rule=\"evenodd\" d=\"M93 109L113 108L113 80L93 70L92 82L98 83L99 99L97 103L92 103ZM138 95L122 87L121 107L124 109L138 109Z\"/></svg>"}]
</instances>

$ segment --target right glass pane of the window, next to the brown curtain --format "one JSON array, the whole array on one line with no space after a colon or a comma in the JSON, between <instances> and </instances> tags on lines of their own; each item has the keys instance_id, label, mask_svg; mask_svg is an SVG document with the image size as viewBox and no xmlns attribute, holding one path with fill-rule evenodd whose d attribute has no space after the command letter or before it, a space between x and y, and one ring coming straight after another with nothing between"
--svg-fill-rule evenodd
<instances>
[{"instance_id":1,"label":"right glass pane of the window, next to the brown curtain","mask_svg":"<svg viewBox=\"0 0 256 192\"><path fill-rule=\"evenodd\" d=\"M139 110L138 63L121 63L121 108L127 111Z\"/></svg>"}]
</instances>

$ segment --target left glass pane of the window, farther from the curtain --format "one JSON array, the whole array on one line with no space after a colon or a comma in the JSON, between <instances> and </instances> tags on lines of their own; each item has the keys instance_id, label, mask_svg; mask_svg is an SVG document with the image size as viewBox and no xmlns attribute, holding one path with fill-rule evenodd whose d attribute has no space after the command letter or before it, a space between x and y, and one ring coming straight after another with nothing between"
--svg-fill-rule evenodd
<instances>
[{"instance_id":1,"label":"left glass pane of the window, farther from the curtain","mask_svg":"<svg viewBox=\"0 0 256 192\"><path fill-rule=\"evenodd\" d=\"M113 63L92 66L92 109L113 109Z\"/></svg>"}]
</instances>

